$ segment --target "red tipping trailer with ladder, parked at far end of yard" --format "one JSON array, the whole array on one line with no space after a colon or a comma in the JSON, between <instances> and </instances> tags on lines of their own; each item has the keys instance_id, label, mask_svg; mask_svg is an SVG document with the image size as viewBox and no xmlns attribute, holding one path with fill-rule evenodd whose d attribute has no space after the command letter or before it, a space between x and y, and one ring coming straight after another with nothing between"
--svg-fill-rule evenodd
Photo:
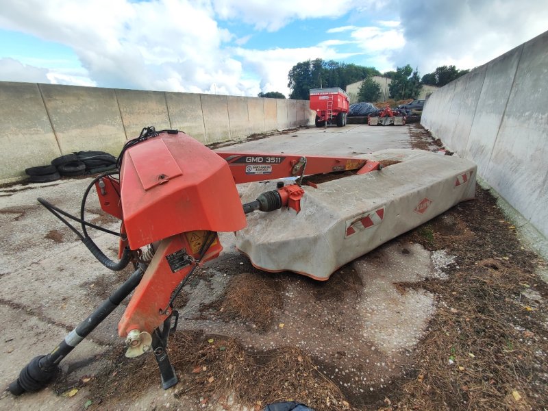
<instances>
[{"instance_id":1,"label":"red tipping trailer with ladder, parked at far end of yard","mask_svg":"<svg viewBox=\"0 0 548 411\"><path fill-rule=\"evenodd\" d=\"M316 127L333 124L337 127L345 126L349 105L347 93L338 87L310 89L310 110L316 112Z\"/></svg>"}]
</instances>

